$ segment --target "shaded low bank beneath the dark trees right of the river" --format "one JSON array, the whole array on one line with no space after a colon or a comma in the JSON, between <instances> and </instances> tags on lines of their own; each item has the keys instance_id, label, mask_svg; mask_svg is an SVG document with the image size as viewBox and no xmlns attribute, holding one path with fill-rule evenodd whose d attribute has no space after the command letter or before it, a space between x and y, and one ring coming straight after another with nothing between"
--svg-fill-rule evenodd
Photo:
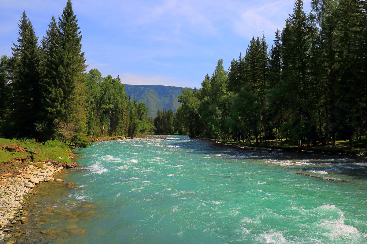
<instances>
[{"instance_id":1,"label":"shaded low bank beneath the dark trees right of the river","mask_svg":"<svg viewBox=\"0 0 367 244\"><path fill-rule=\"evenodd\" d=\"M283 141L283 145L280 144L280 142L278 142L278 145L276 144L275 141L269 141L268 143L248 143L248 142L238 142L238 141L233 141L233 140L218 140L219 142L222 143L228 143L228 144L235 144L235 145L239 145L239 146L251 146L251 147L266 147L269 149L282 149L282 150L288 150L288 151L315 151L315 152L325 152L325 153L341 153L341 154L353 154L353 155L357 155L357 154L365 154L367 155L367 150L364 147L365 143L364 142L353 142L353 145L355 146L355 149L350 150L348 148L348 141L337 141L335 144L335 148L327 147L326 145L321 145L318 144L317 146L307 146L307 145L302 145L302 146L294 146L291 144L288 144L289 142L287 141Z\"/></svg>"}]
</instances>

